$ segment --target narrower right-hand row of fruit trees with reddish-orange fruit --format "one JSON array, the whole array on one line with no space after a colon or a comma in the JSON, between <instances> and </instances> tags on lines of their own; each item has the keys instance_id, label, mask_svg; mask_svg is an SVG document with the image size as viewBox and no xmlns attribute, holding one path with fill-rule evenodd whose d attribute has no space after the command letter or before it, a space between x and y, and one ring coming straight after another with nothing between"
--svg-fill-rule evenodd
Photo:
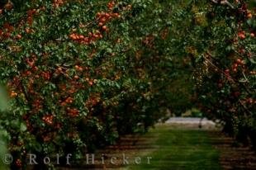
<instances>
[{"instance_id":1,"label":"narrower right-hand row of fruit trees with reddish-orange fruit","mask_svg":"<svg viewBox=\"0 0 256 170\"><path fill-rule=\"evenodd\" d=\"M187 49L197 61L201 110L220 120L225 132L256 146L255 2L197 2L192 16Z\"/></svg>"}]
</instances>

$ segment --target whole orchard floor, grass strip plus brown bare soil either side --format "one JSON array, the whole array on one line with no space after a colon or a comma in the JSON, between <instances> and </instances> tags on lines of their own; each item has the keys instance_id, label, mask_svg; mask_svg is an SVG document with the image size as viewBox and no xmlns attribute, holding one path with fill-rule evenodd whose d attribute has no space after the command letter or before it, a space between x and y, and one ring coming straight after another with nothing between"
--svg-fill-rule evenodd
<instances>
[{"instance_id":1,"label":"whole orchard floor, grass strip plus brown bare soil either side","mask_svg":"<svg viewBox=\"0 0 256 170\"><path fill-rule=\"evenodd\" d=\"M174 118L156 125L145 135L126 135L117 144L98 150L95 164L86 163L85 158L72 169L256 170L254 151L235 146L234 139L222 134L209 120L202 120L199 128L199 121L197 118ZM128 162L124 162L123 157Z\"/></svg>"}]
</instances>

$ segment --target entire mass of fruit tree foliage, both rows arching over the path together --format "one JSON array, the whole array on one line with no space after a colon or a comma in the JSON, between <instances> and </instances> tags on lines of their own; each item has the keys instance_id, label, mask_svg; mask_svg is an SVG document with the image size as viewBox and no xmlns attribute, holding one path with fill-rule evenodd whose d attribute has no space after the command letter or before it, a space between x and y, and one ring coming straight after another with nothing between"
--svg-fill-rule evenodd
<instances>
[{"instance_id":1,"label":"entire mass of fruit tree foliage, both rows arching over the path together","mask_svg":"<svg viewBox=\"0 0 256 170\"><path fill-rule=\"evenodd\" d=\"M2 138L26 169L145 132L196 103L255 144L255 17L246 1L0 3ZM37 167L38 168L38 167ZM40 167L44 168L44 167Z\"/></svg>"}]
</instances>

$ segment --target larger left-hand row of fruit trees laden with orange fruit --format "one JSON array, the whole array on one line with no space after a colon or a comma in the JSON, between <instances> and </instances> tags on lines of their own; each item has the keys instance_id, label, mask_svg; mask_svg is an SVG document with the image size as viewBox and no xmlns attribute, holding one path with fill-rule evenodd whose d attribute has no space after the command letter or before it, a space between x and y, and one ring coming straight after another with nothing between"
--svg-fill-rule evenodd
<instances>
[{"instance_id":1,"label":"larger left-hand row of fruit trees laden with orange fruit","mask_svg":"<svg viewBox=\"0 0 256 170\"><path fill-rule=\"evenodd\" d=\"M130 0L2 3L0 79L11 100L0 123L12 169L26 169L27 153L36 154L36 168L53 153L81 158L164 116L174 77L166 48L170 7Z\"/></svg>"}]
</instances>

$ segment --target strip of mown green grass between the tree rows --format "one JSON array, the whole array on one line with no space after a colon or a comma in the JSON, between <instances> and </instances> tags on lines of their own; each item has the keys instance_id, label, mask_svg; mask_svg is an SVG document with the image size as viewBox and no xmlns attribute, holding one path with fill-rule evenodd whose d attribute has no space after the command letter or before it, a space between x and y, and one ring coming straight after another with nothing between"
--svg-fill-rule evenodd
<instances>
[{"instance_id":1,"label":"strip of mown green grass between the tree rows","mask_svg":"<svg viewBox=\"0 0 256 170\"><path fill-rule=\"evenodd\" d=\"M139 155L152 157L151 163L130 165L128 169L163 169L163 170L217 170L219 153L211 145L206 130L177 128L170 125L159 125L150 130L146 138L156 146L151 153L140 151ZM153 139L155 138L155 140Z\"/></svg>"}]
</instances>

